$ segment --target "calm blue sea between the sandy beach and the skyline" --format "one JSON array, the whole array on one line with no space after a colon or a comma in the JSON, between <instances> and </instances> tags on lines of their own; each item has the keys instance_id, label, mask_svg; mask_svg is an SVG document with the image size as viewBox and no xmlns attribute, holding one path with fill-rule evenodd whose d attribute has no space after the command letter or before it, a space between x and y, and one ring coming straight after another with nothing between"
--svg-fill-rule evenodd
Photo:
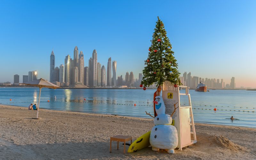
<instances>
[{"instance_id":1,"label":"calm blue sea between the sandy beach and the skyline","mask_svg":"<svg viewBox=\"0 0 256 160\"><path fill-rule=\"evenodd\" d=\"M41 91L40 108L150 118L153 93L142 89L47 89ZM181 90L181 93L185 90ZM194 121L256 128L256 91L190 90ZM56 100L54 97L56 96ZM0 104L27 107L36 103L38 88L0 88ZM84 100L86 98L86 100ZM12 99L12 101L10 101ZM148 104L147 101L150 101ZM50 102L47 102L50 100ZM134 107L134 103L137 104ZM181 95L181 106L188 105ZM217 108L217 111L213 111ZM230 120L233 116L236 119Z\"/></svg>"}]
</instances>

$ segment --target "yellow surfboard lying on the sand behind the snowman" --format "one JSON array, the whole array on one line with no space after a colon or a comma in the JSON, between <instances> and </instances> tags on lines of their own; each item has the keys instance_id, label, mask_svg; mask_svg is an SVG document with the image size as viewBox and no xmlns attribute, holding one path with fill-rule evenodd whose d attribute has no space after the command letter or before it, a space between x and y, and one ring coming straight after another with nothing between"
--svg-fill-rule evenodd
<instances>
[{"instance_id":1,"label":"yellow surfboard lying on the sand behind the snowman","mask_svg":"<svg viewBox=\"0 0 256 160\"><path fill-rule=\"evenodd\" d=\"M150 132L151 131L143 134L137 140L132 142L132 144L128 148L128 153L137 152L140 149L150 146L150 143L149 143Z\"/></svg>"}]
</instances>

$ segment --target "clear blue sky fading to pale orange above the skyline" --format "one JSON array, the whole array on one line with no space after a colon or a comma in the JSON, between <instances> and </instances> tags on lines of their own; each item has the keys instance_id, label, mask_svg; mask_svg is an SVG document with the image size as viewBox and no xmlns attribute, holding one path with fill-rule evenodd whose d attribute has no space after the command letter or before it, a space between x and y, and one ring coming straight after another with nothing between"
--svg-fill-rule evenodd
<instances>
[{"instance_id":1,"label":"clear blue sky fading to pale orange above the skyline","mask_svg":"<svg viewBox=\"0 0 256 160\"><path fill-rule=\"evenodd\" d=\"M117 61L117 76L142 73L157 16L164 22L180 73L256 87L256 1L0 1L0 82L55 64L78 46L85 66Z\"/></svg>"}]
</instances>

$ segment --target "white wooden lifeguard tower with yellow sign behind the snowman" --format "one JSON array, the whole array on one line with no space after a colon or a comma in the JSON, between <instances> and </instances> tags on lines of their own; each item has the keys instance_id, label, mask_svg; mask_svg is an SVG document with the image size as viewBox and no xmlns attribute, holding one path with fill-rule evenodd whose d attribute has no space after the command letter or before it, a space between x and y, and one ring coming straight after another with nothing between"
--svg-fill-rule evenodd
<instances>
[{"instance_id":1,"label":"white wooden lifeguard tower with yellow sign behind the snowman","mask_svg":"<svg viewBox=\"0 0 256 160\"><path fill-rule=\"evenodd\" d=\"M185 88L186 93L180 93L180 87ZM176 104L176 108L179 107L176 109L175 113L172 116L172 125L174 125L178 131L179 142L177 148L179 148L179 150L182 150L183 147L189 146L197 142L188 87L179 85L177 85L177 87L174 87L174 84L169 81L165 81L163 86L160 86L160 88L157 89L156 95L160 95L161 90L165 105L165 114L172 114L174 110L174 104ZM180 95L188 96L189 106L180 106Z\"/></svg>"}]
</instances>

